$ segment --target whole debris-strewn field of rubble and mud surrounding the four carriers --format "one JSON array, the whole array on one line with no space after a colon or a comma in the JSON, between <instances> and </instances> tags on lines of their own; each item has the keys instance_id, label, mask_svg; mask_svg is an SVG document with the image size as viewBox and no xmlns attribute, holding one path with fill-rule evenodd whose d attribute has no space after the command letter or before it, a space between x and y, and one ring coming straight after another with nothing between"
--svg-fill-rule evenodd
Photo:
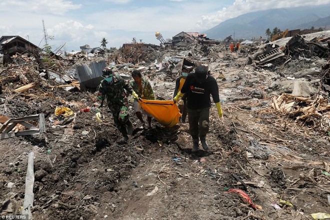
<instances>
[{"instance_id":1,"label":"whole debris-strewn field of rubble and mud surrounding the four carriers","mask_svg":"<svg viewBox=\"0 0 330 220\"><path fill-rule=\"evenodd\" d=\"M330 31L295 35L241 44L232 53L220 44L134 43L104 53L3 57L0 130L24 131L19 125L26 127L25 121L15 119L30 115L42 114L44 124L32 122L27 128L39 129L32 135L0 140L0 215L22 211L29 152L34 219L329 214L329 37ZM191 154L187 124L165 128L153 120L152 128L142 129L132 114L135 129L122 146L109 112L96 122L95 89L104 66L125 80L140 69L157 99L171 100L182 65L207 66L219 85L224 120L219 122L212 106L208 151Z\"/></svg>"}]
</instances>

